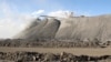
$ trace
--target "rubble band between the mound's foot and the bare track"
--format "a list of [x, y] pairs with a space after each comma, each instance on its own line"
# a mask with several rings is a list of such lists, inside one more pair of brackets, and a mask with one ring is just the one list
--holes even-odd
[[81, 40], [22, 40], [22, 39], [6, 39], [0, 40], [0, 46], [13, 48], [107, 48], [111, 46], [111, 41], [101, 43], [99, 40], [81, 41]]

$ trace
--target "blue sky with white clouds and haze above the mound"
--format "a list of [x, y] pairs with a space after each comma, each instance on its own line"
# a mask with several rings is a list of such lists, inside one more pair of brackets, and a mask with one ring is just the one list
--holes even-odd
[[12, 38], [41, 14], [64, 17], [111, 13], [111, 0], [0, 0], [0, 38]]

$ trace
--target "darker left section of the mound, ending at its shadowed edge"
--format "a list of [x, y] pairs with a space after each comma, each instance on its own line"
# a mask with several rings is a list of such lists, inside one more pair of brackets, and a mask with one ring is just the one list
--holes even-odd
[[[36, 20], [37, 21], [37, 20]], [[54, 38], [60, 21], [56, 19], [50, 20], [42, 20], [40, 22], [32, 22], [32, 25], [30, 24], [28, 29], [22, 31], [20, 34], [16, 35], [16, 39], [51, 39]]]

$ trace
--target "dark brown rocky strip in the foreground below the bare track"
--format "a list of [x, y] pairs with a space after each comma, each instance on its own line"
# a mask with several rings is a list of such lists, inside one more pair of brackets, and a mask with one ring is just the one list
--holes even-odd
[[89, 56], [61, 52], [0, 52], [0, 62], [111, 62], [111, 55]]

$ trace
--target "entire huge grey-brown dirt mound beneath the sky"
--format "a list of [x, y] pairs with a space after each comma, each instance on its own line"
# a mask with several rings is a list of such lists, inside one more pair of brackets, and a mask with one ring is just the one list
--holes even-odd
[[[33, 23], [32, 23], [33, 24]], [[80, 39], [111, 41], [111, 16], [44, 19], [16, 39]]]

